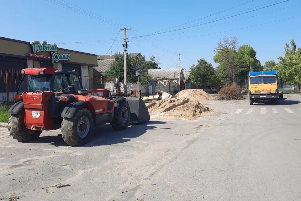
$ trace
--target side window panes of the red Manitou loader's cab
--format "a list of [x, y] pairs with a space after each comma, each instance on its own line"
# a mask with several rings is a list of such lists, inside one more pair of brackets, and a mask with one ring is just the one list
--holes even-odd
[[[75, 90], [82, 90], [81, 81], [78, 76], [70, 74], [69, 76], [71, 84], [74, 84]], [[68, 90], [68, 81], [65, 73], [55, 75], [53, 82], [53, 90], [55, 92], [69, 92]]]

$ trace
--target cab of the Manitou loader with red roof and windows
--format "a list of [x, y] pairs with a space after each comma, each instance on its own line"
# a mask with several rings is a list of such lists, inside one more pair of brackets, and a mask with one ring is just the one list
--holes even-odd
[[81, 80], [76, 72], [47, 71], [46, 69], [49, 68], [22, 70], [24, 76], [19, 84], [17, 95], [22, 95], [24, 91], [53, 91], [76, 94], [77, 91], [83, 90]]

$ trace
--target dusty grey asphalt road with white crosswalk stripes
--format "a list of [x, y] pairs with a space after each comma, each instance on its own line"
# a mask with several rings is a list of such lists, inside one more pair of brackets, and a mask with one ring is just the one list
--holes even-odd
[[198, 121], [104, 125], [82, 147], [59, 130], [18, 143], [2, 128], [0, 200], [301, 200], [301, 96], [202, 104], [214, 112]]

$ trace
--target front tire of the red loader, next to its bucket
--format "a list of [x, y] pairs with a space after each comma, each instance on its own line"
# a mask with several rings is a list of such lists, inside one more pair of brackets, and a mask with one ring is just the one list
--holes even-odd
[[126, 100], [121, 100], [118, 104], [119, 106], [114, 108], [114, 118], [111, 125], [114, 130], [123, 130], [129, 126], [131, 110]]

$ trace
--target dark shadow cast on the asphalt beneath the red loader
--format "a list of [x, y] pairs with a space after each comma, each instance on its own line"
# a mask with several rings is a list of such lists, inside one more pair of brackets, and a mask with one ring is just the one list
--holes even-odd
[[[94, 128], [91, 141], [79, 147], [95, 147], [128, 142], [133, 138], [143, 135], [147, 130], [157, 129], [154, 125], [158, 124], [166, 124], [166, 122], [149, 121], [142, 124], [130, 125], [128, 128], [121, 131], [115, 131], [110, 124], [105, 124]], [[39, 139], [27, 143], [50, 143], [57, 147], [68, 146], [63, 141], [61, 135], [41, 136]]]

